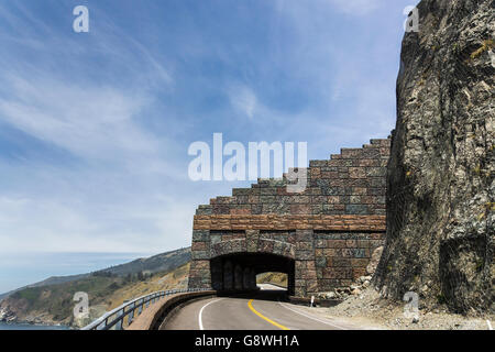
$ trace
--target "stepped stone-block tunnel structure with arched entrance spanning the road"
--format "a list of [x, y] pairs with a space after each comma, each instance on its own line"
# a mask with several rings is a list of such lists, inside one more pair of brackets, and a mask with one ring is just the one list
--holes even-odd
[[189, 288], [254, 289], [264, 272], [286, 273], [297, 297], [349, 287], [384, 244], [389, 145], [372, 140], [311, 161], [299, 194], [284, 175], [199, 206]]

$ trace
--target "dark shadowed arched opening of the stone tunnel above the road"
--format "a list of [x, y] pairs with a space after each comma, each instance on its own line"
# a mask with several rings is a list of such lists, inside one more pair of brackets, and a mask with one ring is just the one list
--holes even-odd
[[287, 275], [287, 294], [294, 295], [294, 258], [271, 253], [233, 253], [210, 260], [211, 286], [221, 293], [258, 289], [256, 275], [283, 273]]

